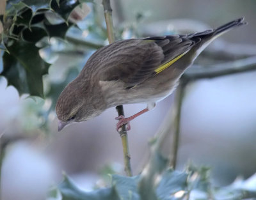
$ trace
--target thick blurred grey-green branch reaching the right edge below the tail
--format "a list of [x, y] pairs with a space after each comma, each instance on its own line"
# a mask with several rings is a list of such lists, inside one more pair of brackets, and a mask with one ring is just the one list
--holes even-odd
[[256, 56], [212, 65], [209, 67], [193, 66], [184, 73], [182, 79], [186, 79], [187, 81], [207, 78], [211, 79], [223, 75], [248, 72], [252, 70], [256, 70]]

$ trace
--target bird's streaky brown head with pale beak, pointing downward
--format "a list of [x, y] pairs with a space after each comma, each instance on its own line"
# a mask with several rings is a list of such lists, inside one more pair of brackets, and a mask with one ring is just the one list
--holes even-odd
[[92, 91], [79, 86], [76, 81], [70, 82], [63, 89], [56, 104], [58, 131], [70, 123], [86, 121], [102, 113], [104, 108], [99, 102], [100, 98], [95, 97]]

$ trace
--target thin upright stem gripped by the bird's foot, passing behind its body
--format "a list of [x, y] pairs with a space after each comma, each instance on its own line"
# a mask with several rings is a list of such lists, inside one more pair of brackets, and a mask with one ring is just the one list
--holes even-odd
[[[104, 16], [106, 20], [106, 26], [108, 31], [108, 41], [109, 43], [115, 42], [115, 36], [113, 31], [113, 19], [112, 19], [112, 9], [110, 5], [110, 0], [103, 0], [102, 5], [104, 8]], [[124, 107], [123, 105], [116, 106], [116, 111], [118, 112], [118, 116], [124, 116]], [[119, 131], [120, 137], [122, 139], [122, 146], [123, 146], [123, 153], [124, 153], [124, 171], [127, 176], [132, 176], [131, 170], [131, 157], [129, 155], [129, 145], [128, 145], [128, 135], [125, 129], [125, 125], [122, 126], [121, 130]]]

